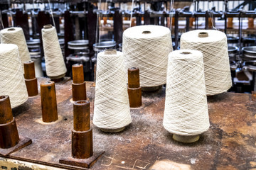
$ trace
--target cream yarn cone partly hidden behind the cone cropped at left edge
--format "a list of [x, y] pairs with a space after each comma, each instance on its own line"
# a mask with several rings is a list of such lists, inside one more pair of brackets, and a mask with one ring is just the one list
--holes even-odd
[[1, 30], [1, 43], [15, 44], [18, 46], [19, 57], [21, 57], [21, 67], [23, 70], [23, 62], [31, 60], [28, 46], [26, 44], [25, 35], [22, 28], [12, 27]]

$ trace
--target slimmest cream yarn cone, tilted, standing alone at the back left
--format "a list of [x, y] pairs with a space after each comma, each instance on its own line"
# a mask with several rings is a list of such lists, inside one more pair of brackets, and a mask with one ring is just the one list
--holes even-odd
[[46, 25], [42, 29], [43, 50], [46, 59], [46, 74], [50, 79], [60, 79], [67, 69], [61, 52], [55, 27]]

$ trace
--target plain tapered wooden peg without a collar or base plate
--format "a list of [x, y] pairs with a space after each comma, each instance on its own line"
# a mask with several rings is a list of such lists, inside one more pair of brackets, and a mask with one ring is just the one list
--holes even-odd
[[58, 120], [55, 83], [53, 81], [46, 81], [40, 86], [43, 122], [54, 122]]

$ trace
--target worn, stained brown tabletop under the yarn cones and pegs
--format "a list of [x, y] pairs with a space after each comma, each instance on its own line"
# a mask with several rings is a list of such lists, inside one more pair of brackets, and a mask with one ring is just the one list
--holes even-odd
[[[42, 79], [40, 79], [41, 81]], [[11, 157], [65, 169], [59, 164], [71, 154], [73, 103], [71, 81], [56, 84], [56, 123], [42, 123], [40, 95], [14, 108], [18, 132], [33, 144]], [[105, 151], [92, 169], [253, 169], [256, 168], [256, 102], [250, 94], [224, 93], [208, 97], [210, 129], [198, 142], [181, 144], [163, 125], [164, 92], [142, 94], [142, 107], [131, 109], [132, 124], [123, 132], [106, 133], [92, 124], [95, 152]], [[95, 88], [87, 82], [91, 101]], [[0, 167], [1, 168], [1, 167]]]

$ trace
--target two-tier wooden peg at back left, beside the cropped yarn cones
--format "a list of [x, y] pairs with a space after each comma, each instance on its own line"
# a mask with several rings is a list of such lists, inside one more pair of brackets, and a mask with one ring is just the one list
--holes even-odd
[[38, 82], [35, 73], [35, 64], [33, 61], [24, 62], [24, 78], [28, 96], [38, 95]]

